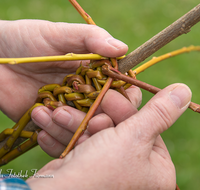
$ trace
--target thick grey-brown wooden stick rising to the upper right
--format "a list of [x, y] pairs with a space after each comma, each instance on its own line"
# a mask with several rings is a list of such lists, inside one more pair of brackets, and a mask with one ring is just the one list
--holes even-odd
[[188, 33], [199, 21], [200, 4], [120, 60], [119, 71], [121, 73], [129, 71], [178, 36]]

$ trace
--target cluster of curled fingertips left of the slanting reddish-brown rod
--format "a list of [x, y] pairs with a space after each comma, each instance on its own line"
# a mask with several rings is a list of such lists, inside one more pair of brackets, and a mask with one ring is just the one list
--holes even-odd
[[[38, 134], [38, 144], [50, 156], [59, 157], [84, 117], [85, 113], [69, 106], [54, 112], [44, 106], [35, 108], [32, 120], [45, 130]], [[63, 123], [60, 124], [60, 121]]]

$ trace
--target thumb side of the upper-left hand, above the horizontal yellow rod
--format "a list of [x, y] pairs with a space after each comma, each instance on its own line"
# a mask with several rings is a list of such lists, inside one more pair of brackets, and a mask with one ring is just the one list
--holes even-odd
[[[7, 30], [3, 31], [4, 28]], [[23, 57], [30, 56], [31, 53], [45, 56], [66, 52], [92, 52], [108, 57], [118, 57], [126, 54], [128, 50], [126, 44], [94, 25], [17, 20], [4, 21], [4, 28], [1, 30], [4, 43], [0, 53], [6, 57], [10, 57], [11, 54], [13, 57]], [[17, 32], [13, 33], [14, 30]], [[20, 39], [21, 36], [23, 40]], [[7, 38], [12, 42], [6, 41]], [[13, 47], [8, 49], [6, 47], [10, 46], [9, 43], [12, 43]], [[16, 48], [17, 45], [21, 48]]]

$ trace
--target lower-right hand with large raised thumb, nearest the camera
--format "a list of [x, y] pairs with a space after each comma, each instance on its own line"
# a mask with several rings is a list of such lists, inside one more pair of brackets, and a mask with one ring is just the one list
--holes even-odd
[[[47, 164], [38, 173], [54, 178], [45, 182], [28, 179], [32, 189], [175, 189], [175, 168], [159, 134], [187, 109], [191, 100], [189, 88], [170, 85], [138, 112], [130, 103], [123, 102], [120, 108], [129, 109], [131, 116], [116, 110], [115, 98], [122, 99], [120, 94], [110, 99], [111, 95], [113, 91], [109, 90], [101, 107], [116, 127], [107, 126], [83, 139], [64, 159]], [[114, 107], [106, 108], [107, 103]]]

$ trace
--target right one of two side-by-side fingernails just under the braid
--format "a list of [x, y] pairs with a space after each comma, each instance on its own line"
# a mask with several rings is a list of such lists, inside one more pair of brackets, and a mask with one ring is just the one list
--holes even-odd
[[65, 109], [60, 109], [53, 117], [53, 120], [55, 123], [57, 123], [60, 126], [66, 127], [66, 126], [71, 126], [72, 123], [72, 116], [71, 114], [65, 110]]

